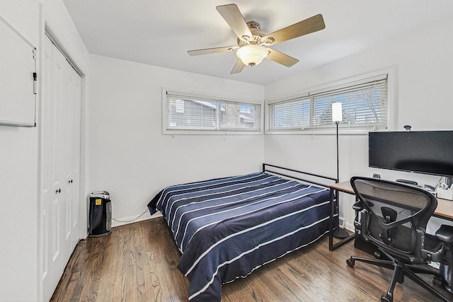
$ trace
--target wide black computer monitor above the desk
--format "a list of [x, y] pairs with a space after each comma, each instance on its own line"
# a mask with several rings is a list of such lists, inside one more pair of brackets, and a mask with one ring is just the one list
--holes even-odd
[[453, 131], [369, 132], [368, 164], [453, 179]]

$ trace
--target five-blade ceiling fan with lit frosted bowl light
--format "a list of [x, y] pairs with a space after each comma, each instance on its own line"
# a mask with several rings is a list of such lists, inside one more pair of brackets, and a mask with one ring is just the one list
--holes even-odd
[[284, 66], [291, 67], [299, 60], [282, 52], [277, 52], [277, 50], [273, 50], [269, 46], [326, 28], [323, 16], [319, 14], [266, 35], [260, 29], [259, 23], [255, 21], [246, 22], [244, 20], [236, 4], [217, 6], [216, 9], [238, 36], [237, 45], [189, 50], [188, 54], [197, 56], [200, 54], [236, 51], [238, 61], [231, 70], [231, 74], [238, 74], [246, 65], [258, 65], [263, 59], [270, 59]]

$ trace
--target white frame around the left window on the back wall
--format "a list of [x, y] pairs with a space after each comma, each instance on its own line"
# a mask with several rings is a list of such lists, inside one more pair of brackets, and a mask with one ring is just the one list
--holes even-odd
[[[219, 103], [230, 102], [239, 103], [244, 105], [258, 105], [258, 127], [259, 130], [248, 131], [248, 130], [236, 130], [236, 129], [167, 129], [167, 93], [176, 95], [186, 95], [190, 98], [202, 98], [215, 100]], [[181, 91], [179, 89], [171, 89], [162, 87], [161, 95], [161, 117], [162, 117], [162, 134], [164, 135], [258, 135], [264, 133], [264, 109], [265, 105], [263, 100], [250, 99], [250, 98], [237, 98], [234, 96], [225, 95], [212, 95], [208, 93], [198, 93], [193, 91]]]

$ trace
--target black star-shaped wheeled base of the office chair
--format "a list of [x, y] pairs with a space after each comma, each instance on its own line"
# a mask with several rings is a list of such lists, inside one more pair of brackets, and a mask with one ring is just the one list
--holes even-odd
[[[396, 283], [403, 284], [405, 277], [408, 277], [409, 279], [414, 281], [416, 284], [422, 286], [424, 289], [429, 291], [431, 294], [435, 295], [437, 298], [440, 298], [440, 300], [445, 301], [445, 302], [451, 301], [449, 298], [442, 295], [439, 291], [437, 291], [435, 288], [433, 288], [430, 284], [423, 281], [423, 279], [421, 279], [420, 277], [418, 277], [416, 275], [416, 274], [430, 274], [433, 276], [434, 284], [443, 285], [444, 282], [442, 281], [443, 280], [442, 274], [440, 274], [439, 272], [437, 272], [433, 269], [428, 269], [428, 268], [420, 267], [417, 265], [408, 265], [401, 260], [391, 257], [390, 255], [387, 255], [387, 256], [392, 260], [379, 260], [379, 259], [369, 259], [369, 258], [352, 256], [348, 260], [346, 260], [346, 263], [348, 264], [348, 267], [354, 267], [355, 262], [359, 261], [359, 262], [368, 263], [369, 265], [376, 265], [378, 267], [384, 267], [386, 269], [394, 270], [394, 274], [391, 277], [389, 289], [387, 290], [386, 294], [383, 294], [381, 296], [381, 301], [383, 301], [383, 302], [391, 302], [394, 300], [394, 289], [395, 289]], [[435, 281], [435, 280], [437, 280], [437, 281]], [[439, 280], [440, 280], [440, 284], [439, 284]], [[445, 286], [445, 287], [447, 288], [449, 286]], [[449, 290], [447, 289], [447, 291], [449, 291]], [[449, 291], [449, 292], [451, 293], [452, 291]]]

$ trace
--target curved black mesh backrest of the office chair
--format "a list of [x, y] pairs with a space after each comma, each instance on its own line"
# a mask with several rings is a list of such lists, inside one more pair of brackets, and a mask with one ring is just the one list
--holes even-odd
[[351, 183], [369, 212], [367, 235], [380, 246], [413, 252], [415, 229], [425, 230], [437, 199], [421, 189], [385, 180], [353, 178]]

